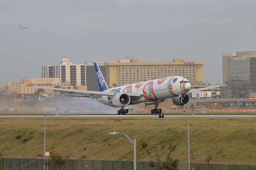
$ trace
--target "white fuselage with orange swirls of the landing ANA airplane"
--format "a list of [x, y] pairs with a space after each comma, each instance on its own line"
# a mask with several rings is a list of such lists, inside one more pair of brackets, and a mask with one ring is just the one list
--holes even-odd
[[[138, 104], [142, 102], [156, 102], [158, 100], [166, 98], [178, 97], [181, 94], [186, 94], [191, 88], [190, 82], [181, 76], [172, 76], [166, 78], [160, 78], [155, 80], [148, 80], [145, 82], [139, 82], [134, 84], [128, 84], [124, 86], [110, 88], [104, 92], [118, 93], [134, 93], [142, 94], [141, 97], [133, 100], [131, 98], [130, 104]], [[108, 106], [114, 106], [112, 100], [108, 96], [102, 96], [98, 99], [99, 102]]]

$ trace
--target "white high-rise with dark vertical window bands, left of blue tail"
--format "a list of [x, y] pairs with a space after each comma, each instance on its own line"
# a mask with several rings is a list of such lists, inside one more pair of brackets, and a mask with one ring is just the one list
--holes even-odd
[[60, 78], [60, 83], [71, 86], [86, 86], [86, 64], [74, 64], [69, 58], [62, 58], [57, 65], [42, 66], [42, 78]]

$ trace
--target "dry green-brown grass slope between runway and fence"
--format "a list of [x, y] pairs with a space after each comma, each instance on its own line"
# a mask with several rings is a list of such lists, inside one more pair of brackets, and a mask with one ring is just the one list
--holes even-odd
[[[186, 118], [48, 118], [46, 150], [86, 156], [93, 160], [130, 160], [132, 144], [124, 132], [137, 138], [137, 159], [153, 160], [156, 148], [178, 143], [173, 154], [181, 162], [187, 159]], [[0, 118], [0, 153], [4, 157], [35, 158], [43, 154], [43, 118]], [[142, 148], [142, 143], [148, 144]], [[197, 150], [197, 159], [223, 149], [226, 164], [255, 164], [256, 119], [254, 118], [191, 118], [190, 149]], [[164, 156], [163, 156], [164, 157]], [[222, 156], [212, 160], [221, 163]], [[214, 162], [215, 161], [215, 162]], [[193, 162], [193, 161], [192, 161]]]

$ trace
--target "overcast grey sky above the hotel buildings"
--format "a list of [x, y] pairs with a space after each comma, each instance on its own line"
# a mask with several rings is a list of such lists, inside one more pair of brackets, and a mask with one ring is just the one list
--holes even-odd
[[[222, 53], [256, 50], [255, 0], [0, 0], [0, 86], [41, 66], [119, 60], [205, 61], [222, 83]], [[17, 27], [28, 26], [28, 30]], [[62, 54], [63, 53], [63, 54]]]

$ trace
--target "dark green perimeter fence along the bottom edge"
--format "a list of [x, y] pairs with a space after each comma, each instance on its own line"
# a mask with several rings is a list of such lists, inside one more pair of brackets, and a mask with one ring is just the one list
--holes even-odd
[[[2, 170], [43, 170], [42, 159], [2, 158]], [[188, 170], [187, 163], [180, 163], [180, 170]], [[190, 164], [191, 170], [256, 170], [250, 165]], [[58, 170], [48, 166], [48, 170]], [[62, 170], [133, 170], [132, 161], [69, 160]], [[157, 170], [149, 162], [137, 162], [137, 170]]]

